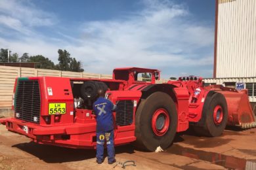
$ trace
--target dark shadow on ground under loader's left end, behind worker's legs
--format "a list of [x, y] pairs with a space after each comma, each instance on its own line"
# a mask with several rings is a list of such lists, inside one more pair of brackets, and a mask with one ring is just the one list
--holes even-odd
[[[64, 148], [60, 146], [43, 145], [33, 142], [15, 144], [12, 147], [23, 150], [24, 152], [28, 152], [29, 154], [32, 154], [33, 156], [47, 163], [81, 161], [95, 158], [96, 156], [96, 150]], [[131, 144], [116, 147], [116, 154], [123, 152], [132, 154], [134, 152], [134, 147]], [[106, 150], [104, 153], [106, 153]]]

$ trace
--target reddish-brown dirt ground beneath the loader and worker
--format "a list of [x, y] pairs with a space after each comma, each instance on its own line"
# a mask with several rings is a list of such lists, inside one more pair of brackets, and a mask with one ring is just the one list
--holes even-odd
[[117, 162], [98, 165], [95, 150], [35, 144], [0, 125], [0, 169], [246, 169], [256, 168], [256, 128], [226, 129], [221, 137], [200, 137], [186, 131], [160, 153], [132, 144], [116, 147]]

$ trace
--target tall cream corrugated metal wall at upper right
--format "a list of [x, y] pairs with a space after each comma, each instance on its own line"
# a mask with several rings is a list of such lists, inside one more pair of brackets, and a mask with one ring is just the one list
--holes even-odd
[[256, 76], [256, 1], [219, 0], [216, 77]]

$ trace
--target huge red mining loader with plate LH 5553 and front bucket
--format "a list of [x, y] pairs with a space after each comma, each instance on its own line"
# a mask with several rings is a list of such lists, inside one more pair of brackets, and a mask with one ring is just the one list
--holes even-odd
[[[150, 75], [150, 82], [139, 77]], [[189, 126], [216, 137], [226, 125], [254, 127], [246, 90], [203, 86], [201, 77], [181, 77], [156, 84], [157, 69], [114, 69], [113, 79], [29, 77], [14, 86], [14, 118], [2, 118], [9, 131], [33, 142], [69, 148], [95, 148], [96, 121], [92, 105], [98, 88], [117, 105], [116, 145], [134, 142], [140, 148], [167, 148], [175, 134]]]

